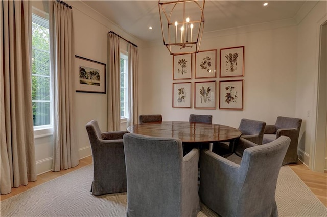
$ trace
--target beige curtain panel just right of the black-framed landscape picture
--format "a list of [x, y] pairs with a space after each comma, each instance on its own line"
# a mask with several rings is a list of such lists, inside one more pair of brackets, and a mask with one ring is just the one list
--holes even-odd
[[108, 131], [118, 131], [121, 127], [119, 41], [119, 36], [108, 33]]

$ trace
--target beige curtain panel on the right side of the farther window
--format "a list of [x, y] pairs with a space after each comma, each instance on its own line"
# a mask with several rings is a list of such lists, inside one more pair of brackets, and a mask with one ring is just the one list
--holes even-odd
[[138, 48], [132, 44], [129, 44], [129, 48], [128, 48], [129, 120], [127, 126], [138, 123], [137, 74], [138, 74]]

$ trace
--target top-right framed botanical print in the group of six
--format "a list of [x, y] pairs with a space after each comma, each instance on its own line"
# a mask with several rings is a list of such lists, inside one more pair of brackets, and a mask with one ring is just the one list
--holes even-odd
[[220, 49], [220, 77], [244, 76], [244, 46]]

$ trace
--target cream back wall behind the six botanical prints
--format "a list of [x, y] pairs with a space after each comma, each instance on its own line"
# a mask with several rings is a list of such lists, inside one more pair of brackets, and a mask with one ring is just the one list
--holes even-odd
[[[239, 34], [220, 34], [204, 38], [201, 50], [217, 49], [217, 78], [173, 81], [173, 56], [165, 46], [152, 44], [145, 49], [146, 70], [139, 79], [141, 92], [141, 113], [162, 114], [164, 120], [188, 121], [191, 113], [212, 114], [213, 122], [238, 127], [242, 118], [262, 120], [274, 124], [277, 116], [295, 117], [296, 105], [296, 55], [297, 27], [285, 27]], [[219, 60], [220, 49], [245, 46], [244, 105], [243, 111], [218, 109], [219, 100]], [[194, 58], [193, 58], [194, 64]], [[193, 65], [194, 66], [194, 65]], [[216, 80], [216, 109], [203, 110], [192, 108], [172, 108], [172, 83]], [[140, 113], [140, 114], [141, 114]]]

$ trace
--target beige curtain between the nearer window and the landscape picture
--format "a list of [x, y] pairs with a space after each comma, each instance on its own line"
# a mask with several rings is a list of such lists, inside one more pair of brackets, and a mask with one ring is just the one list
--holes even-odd
[[57, 1], [49, 4], [50, 49], [54, 95], [53, 171], [79, 164], [74, 133], [73, 11]]

